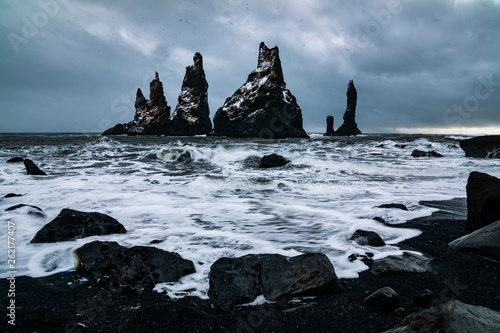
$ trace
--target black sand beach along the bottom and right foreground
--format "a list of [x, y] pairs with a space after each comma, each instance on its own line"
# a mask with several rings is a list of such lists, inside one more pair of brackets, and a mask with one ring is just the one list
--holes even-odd
[[[500, 263], [447, 245], [467, 234], [466, 199], [421, 204], [439, 211], [391, 226], [422, 231], [398, 247], [430, 256], [428, 272], [374, 275], [366, 270], [356, 279], [340, 279], [344, 292], [338, 295], [243, 306], [231, 312], [216, 311], [208, 300], [196, 297], [169, 299], [152, 290], [89, 287], [74, 272], [21, 276], [16, 278], [16, 325], [7, 324], [3, 316], [0, 327], [11, 332], [382, 332], [420, 311], [414, 297], [424, 290], [435, 295], [432, 304], [457, 299], [500, 311]], [[0, 285], [8, 291], [6, 279]], [[398, 293], [398, 310], [380, 313], [363, 304], [382, 287]], [[2, 299], [7, 304], [7, 292]]]

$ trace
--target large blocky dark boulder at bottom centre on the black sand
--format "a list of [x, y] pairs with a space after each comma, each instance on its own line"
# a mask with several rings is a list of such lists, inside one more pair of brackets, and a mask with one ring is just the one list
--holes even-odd
[[332, 263], [321, 253], [221, 258], [210, 268], [209, 280], [210, 302], [226, 310], [252, 302], [259, 295], [278, 301], [342, 291]]

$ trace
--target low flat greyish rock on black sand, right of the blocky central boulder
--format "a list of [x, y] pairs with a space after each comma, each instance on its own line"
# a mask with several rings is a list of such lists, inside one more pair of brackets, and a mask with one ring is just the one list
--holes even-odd
[[371, 272], [375, 275], [415, 272], [423, 273], [429, 270], [430, 259], [411, 252], [404, 252], [402, 256], [387, 256], [373, 261]]

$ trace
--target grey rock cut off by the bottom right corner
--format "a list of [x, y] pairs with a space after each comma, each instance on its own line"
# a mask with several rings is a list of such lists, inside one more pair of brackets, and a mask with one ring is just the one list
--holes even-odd
[[500, 313], [453, 300], [412, 314], [385, 333], [406, 332], [500, 332]]

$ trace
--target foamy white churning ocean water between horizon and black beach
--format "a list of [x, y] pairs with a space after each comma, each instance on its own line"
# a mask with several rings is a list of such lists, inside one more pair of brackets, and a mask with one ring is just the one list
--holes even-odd
[[[220, 257], [250, 253], [295, 256], [322, 252], [339, 277], [367, 267], [350, 254], [375, 258], [401, 253], [398, 242], [420, 234], [388, 224], [430, 215], [421, 200], [465, 197], [471, 171], [500, 176], [500, 160], [466, 158], [466, 136], [361, 135], [347, 138], [228, 139], [215, 137], [102, 137], [96, 134], [0, 135], [0, 277], [7, 276], [7, 221], [16, 224], [18, 275], [45, 276], [73, 268], [72, 251], [94, 240], [155, 246], [178, 252], [197, 272], [156, 289], [172, 297], [206, 298], [208, 272]], [[413, 158], [413, 149], [443, 158]], [[291, 163], [259, 169], [277, 153]], [[15, 156], [32, 159], [48, 176], [29, 176]], [[6, 212], [16, 204], [29, 208]], [[402, 203], [409, 211], [381, 209]], [[126, 234], [53, 244], [30, 244], [63, 208], [116, 218]], [[349, 240], [356, 229], [379, 233], [388, 245]], [[160, 241], [150, 244], [151, 241]]]

